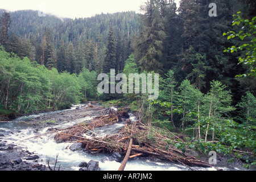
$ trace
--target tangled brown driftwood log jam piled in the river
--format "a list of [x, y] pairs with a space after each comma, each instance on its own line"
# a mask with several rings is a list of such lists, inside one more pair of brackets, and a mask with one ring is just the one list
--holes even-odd
[[[153, 156], [154, 158], [167, 159], [174, 163], [183, 164], [190, 169], [192, 169], [191, 166], [214, 167], [209, 163], [196, 159], [195, 156], [184, 154], [183, 151], [178, 150], [174, 146], [166, 148], [166, 140], [171, 139], [170, 136], [167, 137], [167, 135], [156, 130], [150, 130], [141, 121], [131, 123], [129, 122], [130, 119], [127, 119], [128, 122], [117, 134], [105, 137], [100, 137], [94, 132], [96, 127], [113, 125], [120, 121], [123, 115], [127, 115], [125, 110], [121, 112], [110, 111], [108, 115], [96, 117], [90, 123], [82, 123], [81, 125], [58, 131], [55, 140], [57, 142], [70, 140], [81, 142], [82, 147], [92, 153], [113, 153], [117, 151], [125, 155], [119, 170], [123, 170], [127, 160], [135, 156]], [[166, 132], [171, 133], [168, 130]], [[174, 135], [174, 137], [176, 136]]]

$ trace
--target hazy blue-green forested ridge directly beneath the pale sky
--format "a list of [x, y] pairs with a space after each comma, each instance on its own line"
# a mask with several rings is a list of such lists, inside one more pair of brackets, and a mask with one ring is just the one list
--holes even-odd
[[[0, 9], [0, 14], [3, 13], [3, 9]], [[97, 39], [96, 34], [103, 34], [104, 42], [108, 34], [109, 26], [112, 25], [115, 34], [127, 34], [132, 35], [138, 30], [139, 27], [139, 14], [135, 11], [128, 11], [124, 13], [114, 14], [96, 14], [90, 18], [59, 18], [55, 15], [46, 14], [46, 16], [39, 16], [38, 11], [35, 10], [19, 10], [10, 12], [11, 26], [9, 34], [15, 34], [16, 36], [24, 36], [35, 39], [41, 39], [47, 28], [53, 33], [53, 36], [59, 36], [60, 34], [69, 34], [73, 36], [81, 36], [82, 32], [86, 29], [87, 37], [93, 37]], [[93, 32], [90, 32], [93, 31]], [[79, 35], [78, 35], [79, 34]], [[58, 39], [59, 39], [58, 38]]]

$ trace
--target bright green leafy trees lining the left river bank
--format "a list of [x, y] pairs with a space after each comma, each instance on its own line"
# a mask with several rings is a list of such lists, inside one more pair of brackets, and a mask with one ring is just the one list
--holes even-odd
[[0, 50], [0, 98], [6, 110], [31, 113], [80, 102], [79, 78]]

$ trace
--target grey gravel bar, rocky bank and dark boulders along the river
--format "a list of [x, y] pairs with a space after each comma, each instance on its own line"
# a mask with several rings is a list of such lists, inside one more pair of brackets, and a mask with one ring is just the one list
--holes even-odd
[[[106, 115], [109, 113], [109, 108], [102, 107], [97, 103], [92, 105], [78, 105], [73, 107], [73, 109], [52, 112], [49, 114], [36, 115], [36, 117], [24, 117], [19, 120], [25, 121], [26, 125], [32, 128], [32, 133], [36, 135], [42, 134], [42, 130], [46, 133], [51, 133], [51, 131], [56, 131], [58, 127], [63, 126], [63, 123], [67, 123], [69, 126], [73, 126], [73, 121], [77, 122], [90, 122], [93, 117]], [[35, 116], [35, 115], [34, 115]], [[64, 125], [65, 126], [65, 125]], [[19, 136], [19, 130], [11, 130], [10, 134]], [[24, 136], [20, 136], [21, 138]], [[26, 140], [26, 138], [24, 138]], [[81, 150], [81, 146], [77, 143], [71, 144], [69, 150], [77, 151]], [[195, 154], [199, 155], [199, 154]], [[201, 156], [201, 160], [208, 162], [209, 156]], [[218, 166], [225, 167], [229, 170], [244, 170], [242, 168], [243, 163], [240, 160], [236, 160], [234, 163], [228, 163], [226, 156], [218, 155], [217, 164]], [[54, 160], [54, 159], [51, 159]], [[109, 157], [102, 157], [100, 160], [102, 163], [105, 161], [116, 161], [121, 162], [122, 156], [113, 153]], [[43, 159], [40, 158], [35, 151], [28, 151], [27, 148], [18, 146], [13, 142], [6, 140], [5, 134], [1, 132], [0, 127], [0, 171], [46, 171], [53, 169], [53, 164], [47, 164], [46, 161], [42, 163]], [[56, 166], [56, 170], [58, 166]], [[89, 162], [80, 161], [77, 164], [77, 169], [80, 171], [87, 170], [100, 170], [100, 166], [97, 161], [90, 160]]]

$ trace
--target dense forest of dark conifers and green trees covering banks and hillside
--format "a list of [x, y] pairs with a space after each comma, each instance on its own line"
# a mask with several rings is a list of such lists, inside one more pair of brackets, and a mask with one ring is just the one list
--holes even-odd
[[[209, 16], [209, 3], [217, 16]], [[177, 148], [234, 154], [255, 165], [255, 1], [148, 0], [133, 11], [60, 19], [37, 11], [0, 20], [0, 114], [97, 100], [130, 106]], [[159, 73], [159, 98], [97, 93], [100, 73]], [[168, 146], [167, 146], [168, 147]]]

